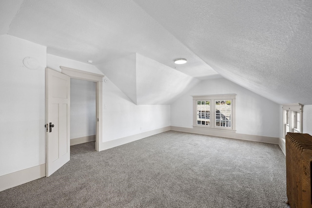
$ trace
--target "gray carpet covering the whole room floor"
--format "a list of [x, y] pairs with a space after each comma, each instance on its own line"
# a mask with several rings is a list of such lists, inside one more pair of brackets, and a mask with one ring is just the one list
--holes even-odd
[[97, 152], [71, 147], [46, 178], [0, 192], [0, 207], [289, 208], [278, 145], [163, 132]]

